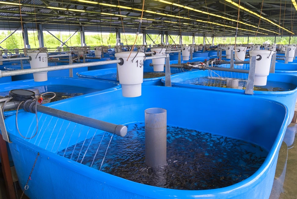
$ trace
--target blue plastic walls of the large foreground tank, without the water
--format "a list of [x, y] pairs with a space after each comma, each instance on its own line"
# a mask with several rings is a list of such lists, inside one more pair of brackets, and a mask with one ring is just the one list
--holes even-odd
[[[199, 102], [201, 106], [197, 104]], [[185, 103], [191, 106], [185, 108]], [[71, 133], [64, 136], [60, 133], [57, 136], [58, 130], [54, 131], [50, 142], [50, 135], [45, 135], [43, 139], [39, 135], [32, 140], [24, 140], [16, 131], [15, 116], [11, 116], [5, 123], [13, 142], [9, 147], [21, 187], [27, 182], [37, 153], [40, 154], [31, 175], [32, 180], [29, 181], [29, 189], [25, 190], [25, 194], [31, 199], [268, 199], [278, 152], [289, 122], [287, 107], [273, 100], [226, 92], [160, 86], [143, 86], [142, 95], [136, 98], [125, 98], [121, 89], [117, 89], [79, 96], [48, 106], [116, 124], [144, 121], [145, 109], [162, 107], [167, 110], [167, 125], [243, 139], [264, 147], [269, 154], [258, 171], [232, 186], [194, 191], [158, 188], [119, 178], [57, 155], [57, 148], [62, 149], [69, 144]], [[214, 123], [213, 118], [216, 115], [219, 119]], [[234, 118], [236, 116], [240, 116], [240, 119]], [[39, 114], [39, 117], [44, 120], [46, 115]], [[34, 114], [22, 112], [18, 120], [21, 132], [35, 132]], [[82, 139], [85, 138], [86, 132], [83, 135]], [[69, 145], [74, 143], [71, 139]]]

